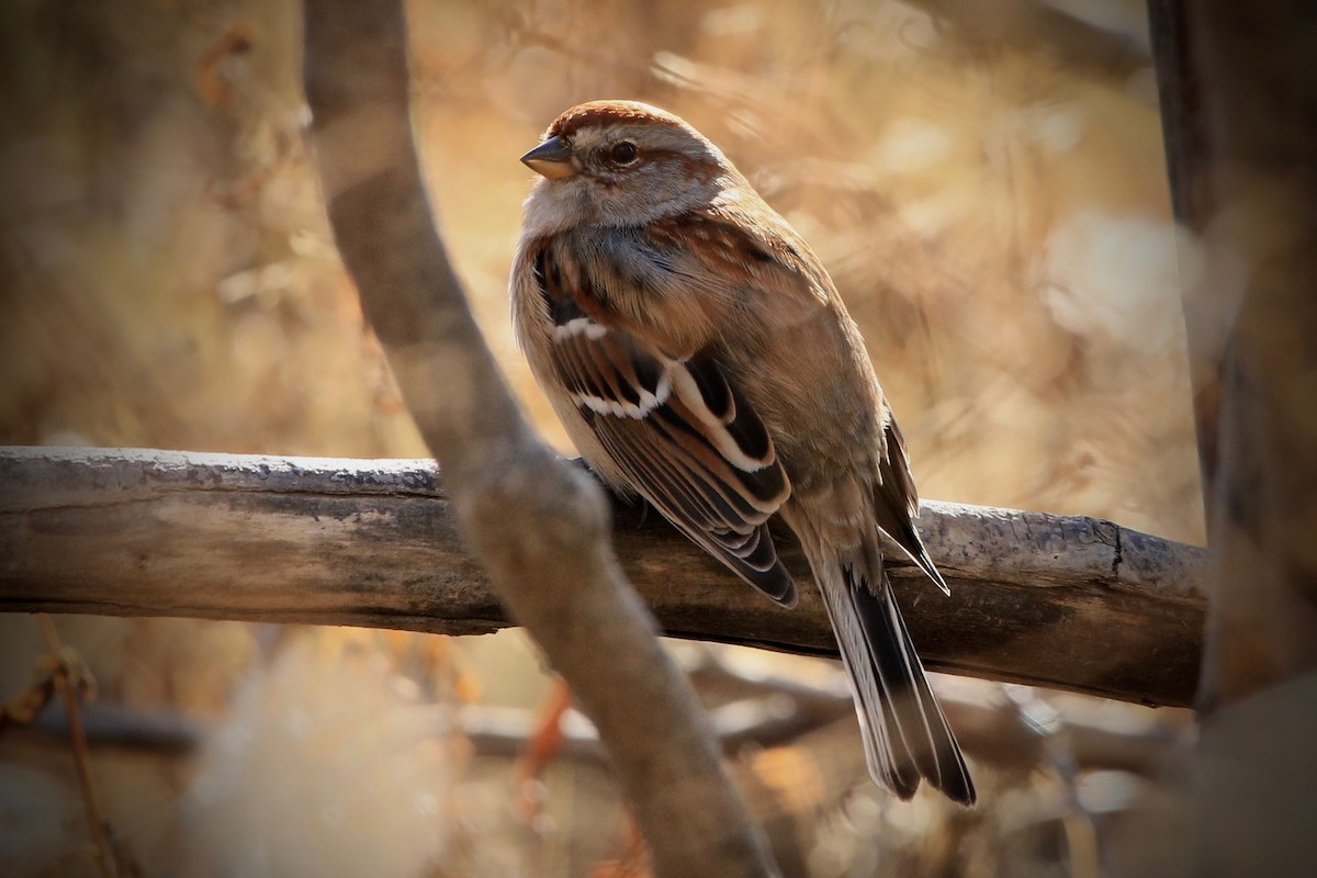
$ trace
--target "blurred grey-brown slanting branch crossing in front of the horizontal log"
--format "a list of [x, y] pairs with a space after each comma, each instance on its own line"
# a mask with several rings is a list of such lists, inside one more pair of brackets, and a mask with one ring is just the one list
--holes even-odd
[[[655, 871], [774, 874], [690, 684], [618, 566], [602, 492], [535, 436], [466, 307], [412, 142], [402, 0], [306, 0], [303, 24], [311, 140], [335, 240], [444, 463], [453, 520], [598, 727]], [[436, 534], [416, 537], [424, 545]]]

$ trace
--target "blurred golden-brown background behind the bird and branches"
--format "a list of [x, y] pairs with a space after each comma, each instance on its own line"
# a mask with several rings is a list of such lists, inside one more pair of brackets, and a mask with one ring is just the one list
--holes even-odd
[[[562, 109], [633, 97], [718, 142], [823, 258], [923, 496], [1202, 541], [1139, 0], [408, 13], [444, 237], [564, 453], [510, 330], [532, 184], [516, 159]], [[425, 454], [328, 233], [300, 134], [299, 14], [5, 4], [0, 442]], [[54, 625], [72, 650], [59, 667], [95, 681], [83, 719], [121, 874], [645, 874], [573, 715], [525, 781], [518, 754], [553, 683], [519, 632]], [[66, 717], [20, 710], [58, 670], [49, 633], [0, 616], [0, 873], [100, 874]], [[1122, 821], [1189, 728], [1183, 711], [939, 678], [980, 806], [901, 804], [865, 778], [834, 663], [673, 646], [788, 874], [1113, 874]]]

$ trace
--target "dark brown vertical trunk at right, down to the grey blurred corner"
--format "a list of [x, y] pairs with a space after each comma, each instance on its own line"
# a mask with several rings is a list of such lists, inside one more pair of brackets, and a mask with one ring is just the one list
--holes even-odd
[[[1317, 669], [1317, 20], [1152, 7], [1220, 587], [1205, 703]], [[1220, 403], [1216, 401], [1220, 399]]]

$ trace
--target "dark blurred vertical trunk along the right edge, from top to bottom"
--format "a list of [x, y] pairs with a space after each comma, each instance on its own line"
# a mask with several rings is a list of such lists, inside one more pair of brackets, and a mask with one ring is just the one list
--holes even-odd
[[1317, 873], [1317, 9], [1152, 7], [1209, 538], [1195, 874]]

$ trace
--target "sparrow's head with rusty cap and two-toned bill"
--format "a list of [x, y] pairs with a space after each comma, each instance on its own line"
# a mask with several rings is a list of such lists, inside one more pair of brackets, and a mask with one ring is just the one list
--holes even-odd
[[744, 184], [681, 118], [648, 104], [599, 100], [558, 116], [522, 157], [544, 179], [528, 208], [547, 225], [639, 225], [707, 207]]

